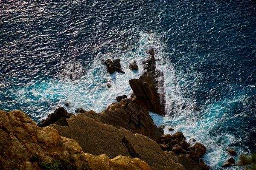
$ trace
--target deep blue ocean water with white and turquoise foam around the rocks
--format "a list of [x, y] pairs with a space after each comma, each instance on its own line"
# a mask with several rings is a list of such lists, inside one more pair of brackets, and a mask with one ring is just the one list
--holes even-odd
[[[228, 147], [256, 152], [254, 0], [2, 0], [0, 109], [36, 122], [66, 102], [70, 113], [100, 112], [131, 95], [128, 80], [143, 74], [148, 48], [164, 72], [168, 115], [150, 114], [165, 133], [205, 144], [211, 169], [221, 169]], [[125, 74], [108, 74], [108, 58], [121, 59]], [[139, 71], [128, 68], [134, 60]], [[81, 79], [59, 78], [70, 62], [83, 66]]]

